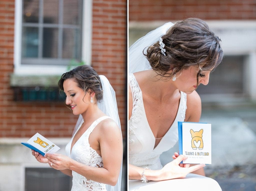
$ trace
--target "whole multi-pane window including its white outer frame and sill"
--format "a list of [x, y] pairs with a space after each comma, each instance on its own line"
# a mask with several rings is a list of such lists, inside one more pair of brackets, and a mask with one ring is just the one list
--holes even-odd
[[91, 64], [92, 0], [15, 0], [15, 76], [61, 75]]

